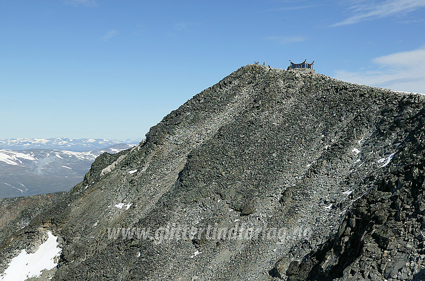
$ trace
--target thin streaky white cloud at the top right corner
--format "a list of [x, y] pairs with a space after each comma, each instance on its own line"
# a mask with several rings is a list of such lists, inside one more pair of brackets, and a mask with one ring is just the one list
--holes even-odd
[[364, 20], [400, 15], [423, 7], [425, 7], [424, 0], [385, 0], [368, 1], [367, 3], [362, 1], [360, 4], [357, 1], [349, 8], [353, 11], [353, 15], [331, 26], [353, 24]]

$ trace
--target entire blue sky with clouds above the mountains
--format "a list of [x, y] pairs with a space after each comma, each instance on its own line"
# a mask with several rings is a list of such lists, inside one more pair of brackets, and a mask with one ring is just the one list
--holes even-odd
[[144, 137], [254, 61], [425, 93], [424, 0], [2, 0], [0, 36], [0, 138]]

